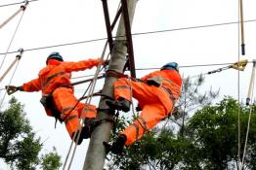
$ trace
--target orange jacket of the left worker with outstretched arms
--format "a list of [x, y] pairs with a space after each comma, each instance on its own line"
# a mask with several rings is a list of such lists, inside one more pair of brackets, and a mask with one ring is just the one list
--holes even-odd
[[48, 65], [40, 70], [38, 78], [22, 85], [23, 91], [39, 91], [43, 94], [52, 93], [59, 86], [71, 86], [70, 77], [72, 71], [91, 69], [97, 66], [101, 59], [88, 59], [78, 62], [62, 62], [54, 59], [54, 64]]

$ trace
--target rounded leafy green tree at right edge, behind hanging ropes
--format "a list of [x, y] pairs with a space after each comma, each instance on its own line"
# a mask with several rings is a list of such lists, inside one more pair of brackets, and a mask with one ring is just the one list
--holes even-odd
[[[187, 126], [187, 135], [198, 150], [205, 169], [234, 169], [237, 164], [237, 115], [240, 110], [241, 149], [244, 147], [249, 108], [226, 97], [216, 106], [195, 113]], [[255, 113], [255, 107], [253, 108]], [[245, 167], [255, 169], [256, 117], [252, 115], [245, 156]], [[242, 150], [241, 150], [242, 151]], [[240, 157], [242, 157], [242, 152]]]

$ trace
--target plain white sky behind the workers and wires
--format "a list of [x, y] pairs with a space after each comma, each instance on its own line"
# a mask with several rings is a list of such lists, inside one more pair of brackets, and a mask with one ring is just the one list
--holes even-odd
[[[0, 0], [0, 5], [21, 1]], [[110, 19], [113, 19], [119, 1], [108, 0]], [[246, 0], [244, 20], [256, 19], [256, 1]], [[0, 24], [13, 15], [20, 5], [0, 8]], [[13, 33], [21, 17], [14, 18], [0, 29], [0, 52], [7, 51]], [[233, 22], [238, 19], [238, 0], [140, 0], [136, 7], [132, 32], [148, 32], [165, 29], [176, 29], [199, 25]], [[256, 22], [244, 23], [246, 55], [240, 58], [252, 60], [256, 54]], [[115, 32], [113, 33], [115, 35]], [[18, 51], [106, 38], [106, 26], [102, 1], [91, 0], [39, 0], [31, 2], [21, 20], [21, 26], [11, 46], [10, 51]], [[238, 58], [238, 25], [230, 24], [216, 27], [188, 29], [158, 34], [134, 36], [134, 51], [136, 68], [161, 67], [166, 62], [176, 61], [180, 65], [230, 63]], [[105, 41], [86, 43], [39, 51], [25, 51], [14, 77], [12, 85], [21, 85], [37, 77], [38, 71], [45, 66], [45, 59], [52, 51], [60, 51], [64, 60], [78, 61], [89, 57], [100, 57]], [[8, 54], [0, 75], [15, 59], [16, 53]], [[4, 55], [0, 55], [2, 58]], [[205, 73], [220, 66], [182, 68], [185, 77]], [[240, 99], [244, 102], [248, 90], [252, 64], [240, 73]], [[95, 71], [95, 70], [93, 70]], [[93, 71], [75, 73], [73, 76], [90, 75]], [[138, 71], [138, 77], [149, 71]], [[8, 85], [12, 72], [1, 83], [0, 87]], [[102, 84], [97, 86], [100, 89]], [[205, 89], [218, 89], [222, 95], [232, 95], [237, 98], [237, 71], [228, 70], [222, 73], [206, 76]], [[76, 86], [84, 89], [85, 85]], [[3, 97], [1, 91], [1, 97]], [[76, 96], [82, 95], [76, 90]], [[55, 119], [44, 113], [39, 103], [40, 92], [14, 94], [25, 105], [27, 118], [38, 136], [44, 143], [44, 151], [57, 147], [63, 162], [70, 140], [64, 124], [58, 123], [54, 129]], [[4, 104], [10, 97], [7, 96]], [[220, 97], [222, 98], [222, 97]], [[98, 100], [93, 101], [98, 104]], [[87, 142], [78, 147], [71, 169], [82, 169], [88, 147]], [[4, 166], [0, 164], [1, 167]]]

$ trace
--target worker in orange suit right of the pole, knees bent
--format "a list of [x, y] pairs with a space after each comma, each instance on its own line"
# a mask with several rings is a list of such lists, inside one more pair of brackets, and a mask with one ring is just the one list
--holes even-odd
[[132, 94], [138, 100], [142, 112], [133, 124], [119, 134], [110, 151], [122, 153], [124, 145], [132, 145], [159, 121], [167, 118], [180, 96], [181, 86], [182, 78], [176, 62], [165, 64], [159, 71], [152, 72], [139, 81], [130, 81], [127, 78], [117, 79], [114, 83], [115, 101], [107, 101], [108, 106], [128, 112]]

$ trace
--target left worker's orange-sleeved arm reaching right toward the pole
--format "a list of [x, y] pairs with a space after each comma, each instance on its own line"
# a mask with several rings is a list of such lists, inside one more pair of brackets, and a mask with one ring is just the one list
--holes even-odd
[[63, 66], [66, 72], [82, 71], [91, 69], [97, 66], [100, 62], [104, 62], [102, 59], [87, 59], [78, 62], [64, 62]]

